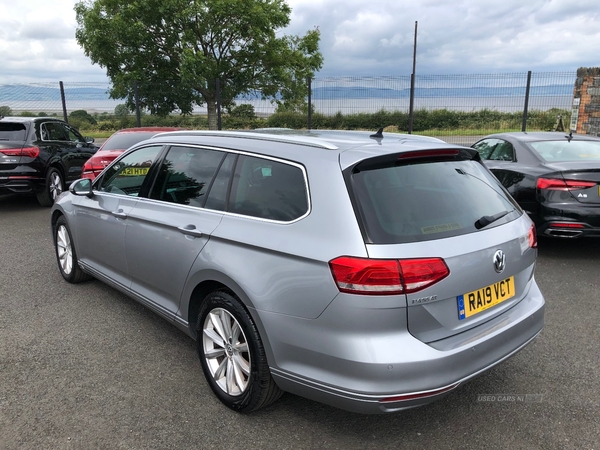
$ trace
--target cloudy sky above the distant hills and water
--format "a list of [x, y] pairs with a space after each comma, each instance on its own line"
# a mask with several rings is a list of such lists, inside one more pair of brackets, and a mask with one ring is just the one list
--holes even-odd
[[[0, 0], [0, 83], [106, 81], [75, 42], [75, 0]], [[598, 0], [288, 0], [321, 31], [317, 76], [571, 72], [600, 66]]]

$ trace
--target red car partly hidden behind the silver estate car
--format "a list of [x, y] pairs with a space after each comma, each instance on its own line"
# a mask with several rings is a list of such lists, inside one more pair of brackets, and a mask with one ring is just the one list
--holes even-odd
[[104, 170], [117, 156], [134, 144], [151, 138], [155, 134], [167, 131], [178, 131], [182, 128], [174, 127], [141, 127], [124, 128], [109, 137], [98, 151], [83, 165], [82, 178], [93, 180]]

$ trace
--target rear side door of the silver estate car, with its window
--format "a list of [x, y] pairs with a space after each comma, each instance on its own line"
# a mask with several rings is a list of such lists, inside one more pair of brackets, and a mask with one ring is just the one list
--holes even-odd
[[158, 312], [177, 312], [189, 270], [221, 221], [222, 214], [204, 203], [225, 156], [201, 147], [171, 147], [148, 198], [129, 214], [125, 251], [132, 289]]

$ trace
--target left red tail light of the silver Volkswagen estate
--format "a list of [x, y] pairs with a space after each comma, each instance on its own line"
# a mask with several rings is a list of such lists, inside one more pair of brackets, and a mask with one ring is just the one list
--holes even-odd
[[408, 294], [450, 274], [441, 258], [367, 259], [341, 256], [329, 262], [341, 292], [367, 295]]

